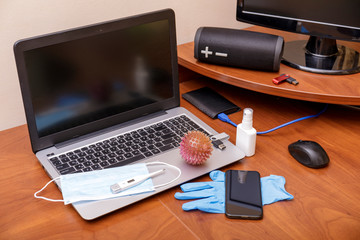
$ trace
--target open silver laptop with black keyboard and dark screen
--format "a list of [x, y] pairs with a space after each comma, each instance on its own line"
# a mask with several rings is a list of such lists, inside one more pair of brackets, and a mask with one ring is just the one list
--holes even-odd
[[[98, 218], [244, 157], [225, 140], [226, 148], [214, 149], [203, 165], [181, 158], [186, 131], [218, 133], [180, 107], [176, 46], [171, 9], [15, 43], [32, 150], [50, 178], [154, 161], [182, 171], [154, 192], [73, 203], [82, 218]], [[188, 130], [180, 123], [188, 123]], [[139, 139], [142, 145], [135, 148], [131, 141]], [[154, 185], [177, 174], [166, 169]]]

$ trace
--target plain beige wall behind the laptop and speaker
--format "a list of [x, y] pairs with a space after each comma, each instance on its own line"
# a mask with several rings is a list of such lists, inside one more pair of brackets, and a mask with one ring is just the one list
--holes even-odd
[[15, 41], [163, 8], [176, 14], [178, 44], [200, 26], [244, 28], [236, 0], [0, 0], [0, 130], [26, 123], [13, 55]]

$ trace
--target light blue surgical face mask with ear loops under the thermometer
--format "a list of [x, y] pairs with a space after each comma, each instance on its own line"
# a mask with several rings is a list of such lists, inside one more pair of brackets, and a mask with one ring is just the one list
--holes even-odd
[[[146, 165], [156, 165], [162, 164], [169, 167], [175, 168], [178, 170], [179, 175], [171, 180], [170, 182], [154, 186], [152, 179], [149, 178], [146, 181], [133, 186], [129, 189], [126, 189], [120, 193], [112, 193], [110, 186], [114, 183], [125, 181], [127, 179], [149, 174], [148, 168]], [[155, 188], [160, 186], [165, 186], [176, 181], [181, 175], [179, 168], [163, 163], [163, 162], [153, 162], [153, 163], [139, 163], [133, 165], [127, 165], [117, 168], [109, 168], [99, 171], [91, 171], [84, 173], [75, 173], [62, 175], [58, 178], [55, 178], [49, 181], [41, 190], [34, 194], [35, 198], [45, 199], [53, 202], [64, 202], [64, 204], [70, 204], [80, 201], [92, 201], [92, 200], [103, 200], [116, 198], [121, 196], [129, 196], [134, 194], [141, 194], [152, 192]], [[51, 182], [55, 180], [60, 180], [61, 192], [64, 200], [49, 199], [46, 197], [38, 196], [38, 194], [43, 191]]]

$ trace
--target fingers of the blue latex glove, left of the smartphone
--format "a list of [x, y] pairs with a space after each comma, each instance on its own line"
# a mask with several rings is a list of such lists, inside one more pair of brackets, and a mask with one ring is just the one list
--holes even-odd
[[209, 213], [225, 213], [225, 173], [210, 172], [213, 182], [185, 183], [180, 186], [183, 193], [175, 193], [179, 200], [199, 199], [182, 205], [183, 210], [200, 210]]

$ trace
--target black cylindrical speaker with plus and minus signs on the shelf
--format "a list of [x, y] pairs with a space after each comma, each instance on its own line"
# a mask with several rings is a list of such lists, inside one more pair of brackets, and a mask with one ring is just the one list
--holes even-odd
[[214, 27], [199, 28], [194, 44], [199, 61], [274, 72], [279, 71], [284, 49], [280, 36]]

